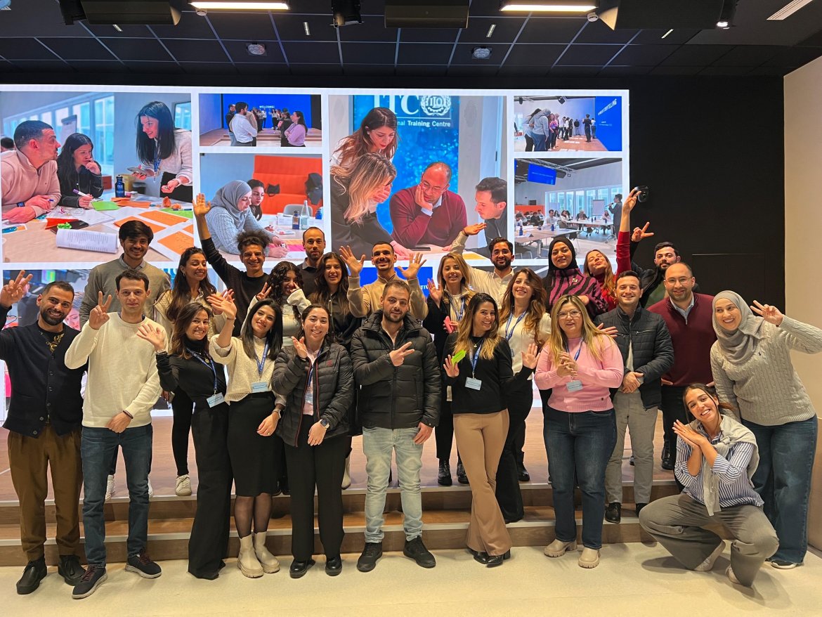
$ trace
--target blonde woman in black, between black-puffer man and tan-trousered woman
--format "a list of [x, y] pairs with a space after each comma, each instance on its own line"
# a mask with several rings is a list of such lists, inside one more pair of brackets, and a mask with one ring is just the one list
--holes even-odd
[[[471, 268], [459, 253], [448, 253], [442, 257], [439, 270], [436, 271], [436, 283], [428, 281], [428, 314], [423, 320], [423, 327], [434, 336], [436, 357], [445, 362], [442, 355], [446, 339], [454, 332], [465, 314], [465, 308], [473, 296], [471, 290]], [[446, 321], [447, 319], [447, 321]], [[443, 375], [445, 378], [445, 375]], [[436, 457], [440, 461], [436, 481], [441, 486], [450, 486], [451, 480], [451, 443], [454, 441], [454, 415], [451, 414], [451, 388], [442, 388], [440, 423], [434, 430], [436, 437]], [[457, 481], [468, 484], [468, 476], [462, 459], [457, 451]]]

